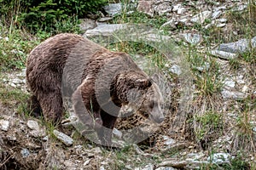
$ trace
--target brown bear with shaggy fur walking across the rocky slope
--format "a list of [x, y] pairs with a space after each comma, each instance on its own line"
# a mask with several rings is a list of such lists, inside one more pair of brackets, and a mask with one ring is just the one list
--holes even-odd
[[34, 48], [26, 61], [26, 81], [32, 111], [42, 110], [46, 121], [59, 122], [62, 97], [70, 97], [83, 122], [96, 121], [102, 144], [111, 144], [122, 105], [133, 105], [154, 122], [164, 120], [160, 88], [131, 57], [79, 35], [62, 33]]

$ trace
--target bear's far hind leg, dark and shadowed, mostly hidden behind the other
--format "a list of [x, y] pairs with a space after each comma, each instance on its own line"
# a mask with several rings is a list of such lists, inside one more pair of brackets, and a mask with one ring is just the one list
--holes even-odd
[[35, 95], [32, 95], [30, 99], [27, 100], [27, 111], [37, 118], [42, 116], [42, 109]]

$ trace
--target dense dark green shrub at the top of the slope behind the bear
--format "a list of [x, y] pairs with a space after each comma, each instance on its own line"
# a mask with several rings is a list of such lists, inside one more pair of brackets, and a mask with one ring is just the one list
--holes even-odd
[[[64, 20], [78, 24], [85, 14], [96, 13], [107, 0], [0, 0], [1, 16], [29, 30], [55, 31]], [[60, 29], [59, 29], [60, 30]], [[67, 31], [64, 29], [63, 31]]]

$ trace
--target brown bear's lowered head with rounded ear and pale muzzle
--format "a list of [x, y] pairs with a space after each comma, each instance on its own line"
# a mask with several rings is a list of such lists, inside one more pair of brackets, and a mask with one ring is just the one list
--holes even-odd
[[117, 78], [117, 96], [135, 111], [149, 117], [154, 122], [163, 122], [165, 116], [161, 106], [163, 97], [158, 85], [143, 71], [127, 71]]

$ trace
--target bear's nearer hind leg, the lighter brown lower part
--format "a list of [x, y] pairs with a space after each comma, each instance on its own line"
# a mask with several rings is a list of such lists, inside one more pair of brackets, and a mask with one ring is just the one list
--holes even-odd
[[38, 101], [43, 110], [45, 121], [55, 124], [61, 122], [61, 117], [64, 112], [61, 91], [55, 93], [42, 92], [41, 95], [38, 96]]

